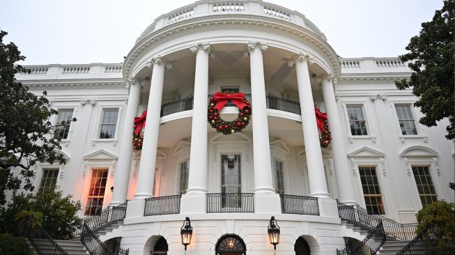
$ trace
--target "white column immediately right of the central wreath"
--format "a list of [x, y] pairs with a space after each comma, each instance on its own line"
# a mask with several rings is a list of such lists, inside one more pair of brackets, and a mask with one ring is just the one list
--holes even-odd
[[268, 45], [249, 42], [251, 70], [254, 193], [275, 193], [273, 188], [270, 142], [268, 139], [267, 103], [262, 52]]

